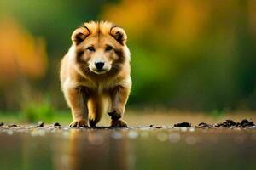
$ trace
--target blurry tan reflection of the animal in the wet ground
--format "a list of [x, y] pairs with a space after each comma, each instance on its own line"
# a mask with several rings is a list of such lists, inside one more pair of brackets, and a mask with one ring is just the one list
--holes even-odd
[[113, 138], [113, 134], [124, 136], [124, 131], [72, 129], [69, 133], [67, 144], [55, 153], [55, 169], [128, 169], [128, 141]]

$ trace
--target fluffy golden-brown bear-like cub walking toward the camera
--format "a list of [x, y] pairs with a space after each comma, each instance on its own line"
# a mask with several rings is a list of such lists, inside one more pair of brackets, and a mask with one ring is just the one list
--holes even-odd
[[131, 90], [130, 52], [125, 31], [109, 22], [86, 22], [73, 31], [61, 60], [61, 90], [71, 108], [70, 127], [95, 127], [103, 113], [111, 127], [122, 120]]

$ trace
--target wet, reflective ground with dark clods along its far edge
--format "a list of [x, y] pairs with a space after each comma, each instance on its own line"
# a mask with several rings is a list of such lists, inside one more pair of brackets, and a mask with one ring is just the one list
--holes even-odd
[[256, 126], [241, 122], [123, 129], [3, 125], [0, 169], [255, 169]]

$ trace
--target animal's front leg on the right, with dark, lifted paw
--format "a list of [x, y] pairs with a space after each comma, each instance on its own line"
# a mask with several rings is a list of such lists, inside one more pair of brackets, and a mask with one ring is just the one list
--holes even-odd
[[117, 86], [111, 93], [112, 105], [108, 112], [111, 117], [111, 127], [127, 127], [126, 122], [122, 120], [125, 113], [125, 105], [130, 94], [130, 88]]

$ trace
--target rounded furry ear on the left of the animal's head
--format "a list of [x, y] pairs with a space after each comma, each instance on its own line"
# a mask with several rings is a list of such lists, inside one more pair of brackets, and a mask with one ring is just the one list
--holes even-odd
[[73, 31], [73, 34], [71, 36], [71, 40], [73, 44], [79, 45], [79, 43], [83, 42], [86, 37], [90, 35], [90, 31], [87, 27], [79, 27], [75, 31]]

